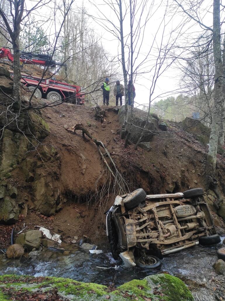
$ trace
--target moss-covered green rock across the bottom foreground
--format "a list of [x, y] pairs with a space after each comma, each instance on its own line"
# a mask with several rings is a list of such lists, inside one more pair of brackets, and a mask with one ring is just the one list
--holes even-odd
[[[171, 275], [151, 275], [143, 280], [132, 280], [115, 290], [105, 285], [84, 283], [68, 278], [3, 275], [0, 276], [0, 300], [18, 298], [20, 294], [30, 297], [39, 291], [42, 296], [51, 296], [53, 290], [61, 299], [69, 300], [164, 300], [193, 301], [194, 298], [186, 285]], [[4, 289], [6, 288], [6, 290]], [[10, 287], [10, 290], [7, 288]], [[1, 299], [2, 298], [2, 299]]]

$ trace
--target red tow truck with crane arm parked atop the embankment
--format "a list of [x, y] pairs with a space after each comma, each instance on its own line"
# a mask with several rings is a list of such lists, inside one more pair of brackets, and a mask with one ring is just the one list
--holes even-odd
[[[0, 48], [0, 59], [7, 57], [8, 60], [13, 62], [14, 56], [8, 48]], [[29, 52], [20, 53], [20, 64], [32, 64], [55, 67], [56, 65], [65, 66], [66, 64], [56, 63], [51, 60], [51, 56], [47, 54], [34, 54]], [[13, 76], [13, 72], [10, 72]], [[34, 96], [39, 98], [47, 98], [51, 101], [58, 101], [60, 99], [66, 99], [66, 102], [73, 104], [84, 104], [84, 94], [81, 93], [81, 87], [71, 85], [66, 82], [61, 82], [52, 77], [51, 79], [41, 79], [37, 76], [21, 73], [21, 82], [33, 92], [35, 87], [39, 84], [39, 87], [35, 90]]]

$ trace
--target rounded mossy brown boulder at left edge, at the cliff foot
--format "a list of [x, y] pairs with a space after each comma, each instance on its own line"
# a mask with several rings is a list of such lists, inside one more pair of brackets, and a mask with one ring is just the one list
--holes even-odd
[[0, 200], [0, 223], [14, 224], [19, 217], [19, 207], [14, 199], [5, 197]]

